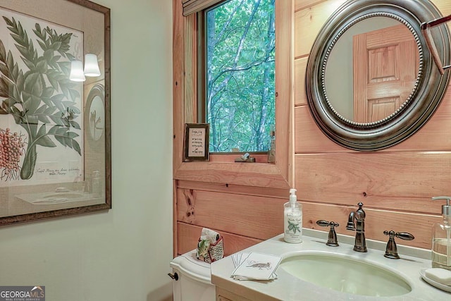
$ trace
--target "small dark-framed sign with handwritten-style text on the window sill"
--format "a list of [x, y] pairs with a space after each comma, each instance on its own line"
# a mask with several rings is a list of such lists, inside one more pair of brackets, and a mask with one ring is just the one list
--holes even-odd
[[185, 123], [185, 160], [209, 160], [209, 123]]

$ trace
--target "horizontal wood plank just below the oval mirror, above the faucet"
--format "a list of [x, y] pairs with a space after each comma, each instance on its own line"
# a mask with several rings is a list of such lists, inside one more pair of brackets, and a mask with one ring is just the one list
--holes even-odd
[[300, 199], [440, 214], [436, 195], [451, 195], [451, 152], [372, 152], [295, 156]]

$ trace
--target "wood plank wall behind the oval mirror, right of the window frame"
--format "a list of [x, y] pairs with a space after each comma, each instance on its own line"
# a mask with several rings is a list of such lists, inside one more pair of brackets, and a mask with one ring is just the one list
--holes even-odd
[[[409, 232], [415, 240], [397, 243], [430, 248], [443, 204], [431, 197], [451, 195], [451, 90], [424, 128], [395, 147], [355, 152], [331, 142], [311, 118], [304, 78], [316, 35], [343, 2], [295, 4], [295, 188], [304, 201], [304, 226], [332, 220], [340, 223], [338, 233], [352, 235], [345, 229], [347, 215], [363, 202], [366, 238], [387, 240], [385, 230]], [[433, 2], [443, 15], [451, 13], [449, 1]]]

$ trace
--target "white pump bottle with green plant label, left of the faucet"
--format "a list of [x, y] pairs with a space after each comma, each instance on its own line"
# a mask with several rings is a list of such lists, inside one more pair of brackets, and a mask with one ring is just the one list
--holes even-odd
[[283, 205], [283, 240], [302, 242], [302, 204], [297, 202], [294, 188], [290, 189], [290, 202]]

